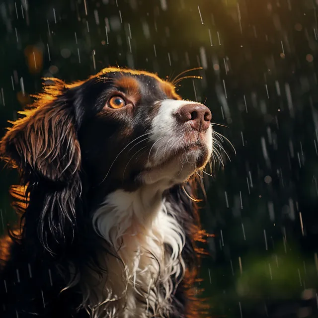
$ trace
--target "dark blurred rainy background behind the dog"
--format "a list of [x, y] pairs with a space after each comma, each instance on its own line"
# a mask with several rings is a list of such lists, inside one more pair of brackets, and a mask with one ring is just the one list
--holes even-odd
[[[42, 77], [120, 66], [184, 79], [227, 137], [205, 176], [201, 287], [211, 316], [318, 317], [315, 0], [0, 1], [0, 135]], [[107, 35], [106, 35], [107, 28]], [[221, 152], [221, 151], [220, 151]], [[0, 167], [0, 233], [13, 222]]]

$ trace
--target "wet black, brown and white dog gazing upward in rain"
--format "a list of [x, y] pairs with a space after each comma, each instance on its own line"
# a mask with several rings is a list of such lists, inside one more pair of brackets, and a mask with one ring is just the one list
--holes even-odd
[[153, 73], [46, 79], [0, 141], [20, 225], [0, 240], [2, 318], [199, 317], [196, 176], [211, 111]]

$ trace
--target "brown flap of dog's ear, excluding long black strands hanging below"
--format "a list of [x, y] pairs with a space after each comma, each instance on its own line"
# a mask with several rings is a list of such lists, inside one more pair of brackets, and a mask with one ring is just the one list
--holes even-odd
[[80, 148], [68, 89], [56, 81], [34, 107], [13, 124], [0, 142], [1, 157], [34, 181], [71, 182], [79, 169]]

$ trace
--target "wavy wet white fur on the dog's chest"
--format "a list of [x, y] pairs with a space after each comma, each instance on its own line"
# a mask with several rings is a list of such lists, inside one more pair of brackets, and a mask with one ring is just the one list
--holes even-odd
[[118, 256], [106, 256], [108, 272], [102, 281], [91, 277], [95, 295], [86, 297], [94, 318], [169, 314], [175, 282], [184, 274], [185, 235], [169, 203], [155, 198], [149, 205], [145, 195], [117, 190], [94, 214], [96, 232]]

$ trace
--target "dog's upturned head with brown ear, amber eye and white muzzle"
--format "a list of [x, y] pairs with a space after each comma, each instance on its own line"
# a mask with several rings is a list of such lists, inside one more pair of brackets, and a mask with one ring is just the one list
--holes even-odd
[[0, 153], [19, 167], [25, 183], [42, 192], [57, 189], [51, 205], [62, 212], [57, 217], [48, 208], [39, 223], [48, 222], [61, 238], [65, 223], [76, 223], [81, 172], [105, 194], [150, 184], [164, 190], [210, 159], [210, 110], [183, 100], [152, 73], [107, 68], [73, 84], [48, 81], [34, 107], [5, 134]]

